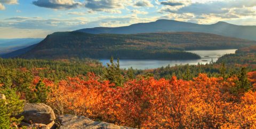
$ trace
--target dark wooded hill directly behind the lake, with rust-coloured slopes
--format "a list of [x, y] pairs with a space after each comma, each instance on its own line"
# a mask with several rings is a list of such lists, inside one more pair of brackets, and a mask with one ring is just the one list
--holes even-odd
[[241, 48], [253, 44], [256, 41], [197, 32], [94, 35], [73, 31], [52, 33], [39, 44], [2, 57], [109, 59], [114, 56], [121, 59], [197, 59], [200, 58], [198, 55], [184, 50]]

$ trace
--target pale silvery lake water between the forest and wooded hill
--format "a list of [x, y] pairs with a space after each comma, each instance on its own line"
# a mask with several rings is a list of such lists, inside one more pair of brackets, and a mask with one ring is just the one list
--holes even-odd
[[[190, 53], [195, 53], [201, 56], [201, 59], [190, 59], [190, 60], [173, 60], [173, 61], [163, 61], [157, 59], [120, 59], [120, 68], [130, 68], [133, 67], [134, 69], [151, 69], [151, 68], [158, 68], [162, 66], [170, 66], [180, 65], [180, 64], [206, 64], [210, 63], [212, 60], [216, 62], [219, 57], [225, 54], [234, 54], [237, 49], [225, 49], [225, 50], [188, 50]], [[109, 59], [100, 59], [103, 65], [107, 65], [109, 63]]]

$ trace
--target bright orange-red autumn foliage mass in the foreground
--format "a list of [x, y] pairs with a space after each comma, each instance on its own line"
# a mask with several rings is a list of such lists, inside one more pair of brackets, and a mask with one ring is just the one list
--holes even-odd
[[199, 74], [192, 81], [141, 78], [115, 87], [90, 73], [52, 85], [47, 104], [57, 114], [137, 128], [255, 128], [256, 92], [233, 94], [236, 80]]

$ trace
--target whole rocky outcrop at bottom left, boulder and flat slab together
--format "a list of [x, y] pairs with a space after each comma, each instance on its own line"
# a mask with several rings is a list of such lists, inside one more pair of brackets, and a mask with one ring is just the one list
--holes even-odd
[[[106, 122], [94, 122], [84, 116], [63, 115], [55, 119], [55, 115], [51, 107], [45, 104], [25, 104], [23, 112], [20, 114], [24, 116], [20, 126], [27, 126], [27, 128], [49, 129], [49, 128], [113, 128], [122, 129], [130, 127], [118, 126]], [[59, 124], [55, 126], [55, 121]], [[57, 124], [56, 123], [56, 124]]]

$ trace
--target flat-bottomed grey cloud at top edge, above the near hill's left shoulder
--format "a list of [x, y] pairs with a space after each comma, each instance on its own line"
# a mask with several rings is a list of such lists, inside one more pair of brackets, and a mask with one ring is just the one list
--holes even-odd
[[39, 7], [53, 8], [53, 9], [71, 9], [82, 5], [81, 2], [74, 0], [37, 0], [33, 4]]

